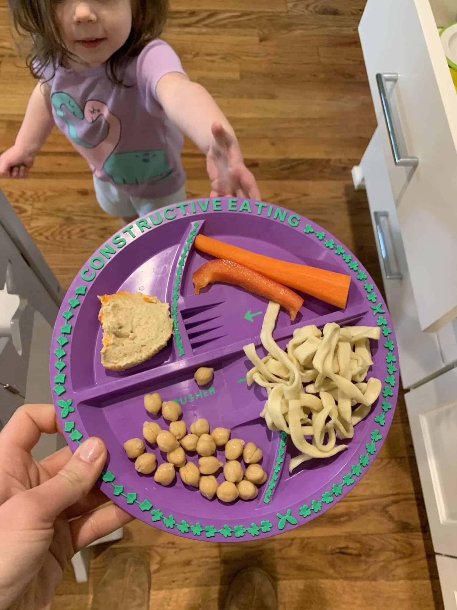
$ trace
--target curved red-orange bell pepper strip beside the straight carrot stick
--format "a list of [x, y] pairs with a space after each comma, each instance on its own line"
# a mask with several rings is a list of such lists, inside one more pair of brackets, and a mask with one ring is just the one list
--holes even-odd
[[192, 276], [196, 295], [201, 288], [213, 282], [235, 284], [258, 296], [264, 296], [269, 301], [279, 303], [288, 310], [291, 320], [295, 320], [298, 310], [303, 305], [303, 299], [282, 284], [278, 284], [264, 275], [252, 271], [230, 260], [208, 260]]

